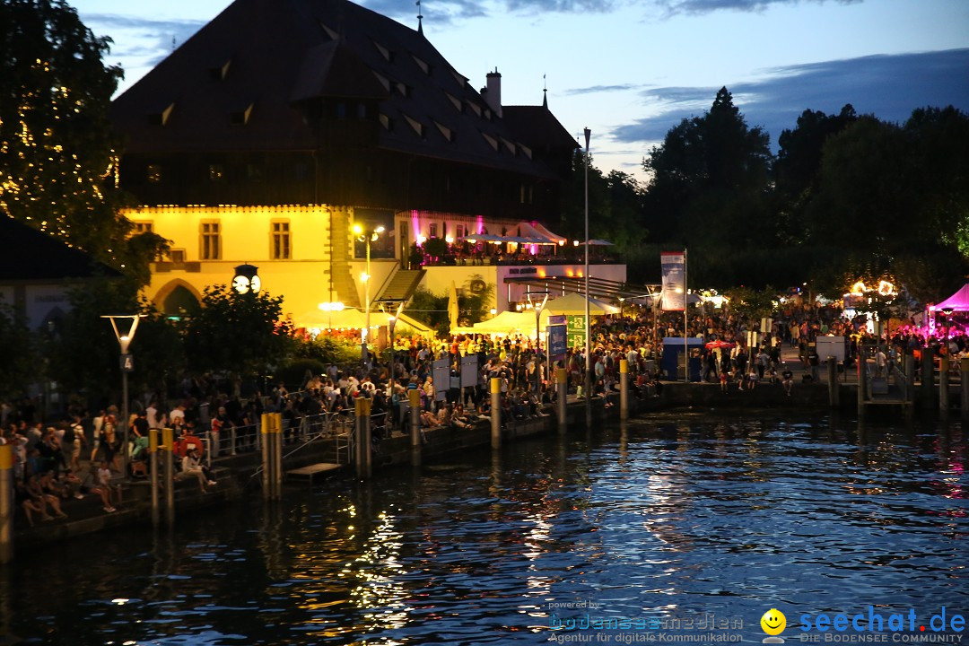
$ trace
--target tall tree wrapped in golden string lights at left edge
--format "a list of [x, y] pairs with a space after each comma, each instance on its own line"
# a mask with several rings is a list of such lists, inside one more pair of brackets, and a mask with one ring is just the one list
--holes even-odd
[[63, 0], [0, 4], [0, 211], [147, 283], [165, 240], [119, 214], [108, 119], [122, 77]]

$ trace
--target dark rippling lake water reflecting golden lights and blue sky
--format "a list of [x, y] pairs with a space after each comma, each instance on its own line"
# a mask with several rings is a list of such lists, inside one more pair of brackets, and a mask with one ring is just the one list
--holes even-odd
[[[504, 644], [549, 602], [602, 617], [969, 611], [958, 425], [679, 415], [288, 488], [23, 554], [0, 629], [25, 643]], [[2, 640], [0, 640], [2, 641]]]

